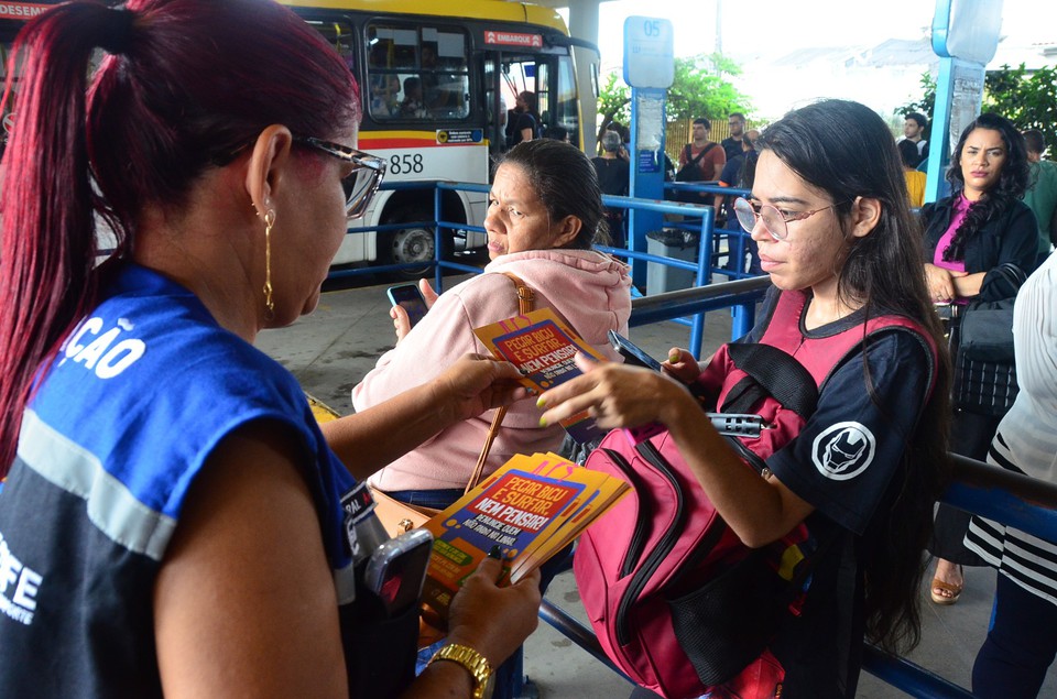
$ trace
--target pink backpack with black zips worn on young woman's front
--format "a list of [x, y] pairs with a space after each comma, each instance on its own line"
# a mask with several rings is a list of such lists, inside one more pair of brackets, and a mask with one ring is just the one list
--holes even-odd
[[[906, 318], [874, 318], [811, 340], [818, 347], [797, 353], [805, 365], [792, 356], [804, 341], [797, 325], [804, 301], [783, 293], [761, 343], [723, 346], [697, 382], [718, 396], [720, 412], [756, 413], [770, 426], [758, 438], [728, 437], [756, 471], [796, 437], [820, 386], [865, 336], [905, 328], [925, 337]], [[720, 685], [729, 692], [716, 696], [778, 696], [784, 671], [767, 645], [783, 620], [798, 613], [808, 576], [831, 542], [809, 540], [802, 523], [778, 542], [748, 548], [667, 430], [638, 445], [614, 430], [585, 466], [634, 487], [584, 533], [574, 560], [606, 654], [636, 684], [672, 699]]]

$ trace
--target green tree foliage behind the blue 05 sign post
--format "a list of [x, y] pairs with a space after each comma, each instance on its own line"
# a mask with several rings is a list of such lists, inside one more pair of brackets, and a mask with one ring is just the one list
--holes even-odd
[[[751, 111], [749, 98], [728, 79], [740, 74], [738, 64], [719, 54], [676, 58], [675, 77], [665, 106], [668, 121], [697, 117], [721, 119], [732, 111]], [[618, 80], [615, 73], [609, 74], [598, 96], [599, 136], [613, 120], [628, 123], [630, 103], [631, 90], [623, 80]]]

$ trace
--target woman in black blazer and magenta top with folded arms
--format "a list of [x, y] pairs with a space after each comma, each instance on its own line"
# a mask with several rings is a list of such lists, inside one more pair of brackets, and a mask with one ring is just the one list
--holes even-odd
[[[1035, 269], [1038, 238], [1032, 210], [1021, 199], [1028, 184], [1024, 138], [1004, 117], [980, 114], [961, 133], [947, 172], [954, 194], [922, 208], [925, 278], [933, 302], [965, 307], [974, 299], [1016, 294], [1003, 265], [1023, 275]], [[951, 425], [955, 454], [982, 461], [1002, 415], [957, 408]], [[954, 604], [965, 589], [963, 566], [983, 561], [962, 540], [969, 513], [940, 503], [929, 551], [936, 556], [930, 597]]]

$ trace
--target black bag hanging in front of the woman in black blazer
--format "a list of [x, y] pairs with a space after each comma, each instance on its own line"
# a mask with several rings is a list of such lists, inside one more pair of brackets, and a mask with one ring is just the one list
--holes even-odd
[[961, 309], [950, 334], [956, 408], [1001, 417], [1016, 400], [1013, 302], [1025, 278], [1018, 266], [1003, 263], [985, 280], [980, 299]]

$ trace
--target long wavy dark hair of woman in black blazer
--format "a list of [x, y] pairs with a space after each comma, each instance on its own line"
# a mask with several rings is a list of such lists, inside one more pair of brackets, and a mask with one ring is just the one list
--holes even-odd
[[965, 260], [966, 245], [980, 233], [988, 221], [1004, 214], [1013, 204], [1024, 198], [1027, 189], [1031, 164], [1027, 162], [1027, 148], [1024, 136], [1016, 127], [1006, 119], [994, 113], [983, 113], [976, 118], [961, 132], [958, 145], [950, 159], [947, 170], [947, 181], [950, 182], [957, 196], [966, 188], [966, 176], [961, 174], [961, 153], [966, 148], [969, 134], [977, 129], [998, 131], [1005, 145], [1006, 160], [1002, 164], [1002, 172], [994, 185], [983, 193], [983, 196], [973, 201], [966, 212], [965, 220], [955, 231], [950, 245], [944, 251], [944, 260]]

